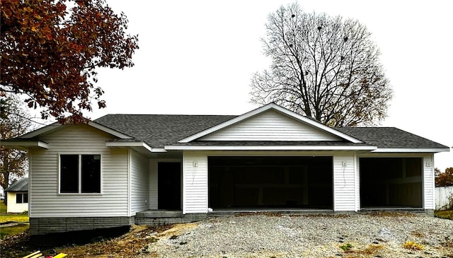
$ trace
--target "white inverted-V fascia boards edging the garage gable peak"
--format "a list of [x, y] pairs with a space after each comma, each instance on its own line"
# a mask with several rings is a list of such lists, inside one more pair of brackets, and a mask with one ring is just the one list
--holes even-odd
[[198, 139], [202, 136], [205, 136], [207, 134], [211, 134], [212, 132], [214, 131], [218, 131], [219, 129], [222, 129], [224, 127], [228, 127], [229, 125], [231, 124], [236, 124], [237, 122], [241, 122], [242, 120], [244, 119], [247, 119], [248, 117], [253, 117], [254, 115], [258, 115], [259, 113], [261, 112], [265, 112], [266, 110], [270, 110], [270, 109], [274, 109], [274, 110], [277, 110], [279, 112], [282, 112], [284, 113], [285, 115], [288, 115], [289, 117], [293, 117], [294, 119], [298, 119], [302, 122], [305, 122], [306, 124], [310, 124], [311, 126], [313, 127], [316, 127], [318, 129], [321, 129], [323, 131], [326, 131], [330, 134], [333, 134], [333, 135], [336, 135], [342, 139], [345, 139], [347, 141], [351, 141], [352, 143], [362, 143], [362, 141], [358, 140], [358, 139], [355, 139], [351, 136], [348, 136], [348, 134], [343, 134], [342, 132], [340, 131], [337, 131], [335, 129], [332, 129], [331, 127], [327, 127], [319, 122], [316, 122], [314, 120], [311, 120], [309, 118], [306, 118], [302, 115], [299, 115], [297, 113], [294, 113], [292, 112], [291, 110], [287, 110], [285, 107], [280, 107], [279, 105], [275, 104], [275, 103], [270, 103], [268, 105], [265, 105], [263, 107], [259, 107], [257, 108], [256, 110], [252, 110], [250, 112], [247, 112], [243, 115], [240, 115], [239, 117], [234, 117], [233, 119], [230, 119], [226, 122], [223, 122], [222, 124], [217, 124], [217, 126], [215, 127], [211, 127], [210, 129], [206, 129], [205, 131], [200, 131], [199, 133], [197, 134], [193, 134], [192, 136], [189, 136], [185, 139], [182, 139], [180, 141], [178, 141], [178, 143], [188, 143], [190, 141], [193, 141], [195, 139]]

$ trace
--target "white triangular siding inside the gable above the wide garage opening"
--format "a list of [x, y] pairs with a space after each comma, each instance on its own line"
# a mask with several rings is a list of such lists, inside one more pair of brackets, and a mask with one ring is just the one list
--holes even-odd
[[338, 141], [338, 137], [268, 110], [230, 127], [203, 136], [200, 141]]

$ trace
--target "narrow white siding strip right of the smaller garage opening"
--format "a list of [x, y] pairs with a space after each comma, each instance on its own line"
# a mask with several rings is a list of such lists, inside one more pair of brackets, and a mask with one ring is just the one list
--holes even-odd
[[435, 209], [434, 154], [423, 156], [423, 209]]

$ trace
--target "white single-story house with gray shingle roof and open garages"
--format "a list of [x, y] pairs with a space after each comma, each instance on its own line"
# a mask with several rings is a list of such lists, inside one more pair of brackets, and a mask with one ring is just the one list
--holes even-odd
[[27, 148], [30, 234], [243, 211], [435, 209], [434, 153], [393, 127], [331, 128], [273, 103], [243, 115], [105, 115]]

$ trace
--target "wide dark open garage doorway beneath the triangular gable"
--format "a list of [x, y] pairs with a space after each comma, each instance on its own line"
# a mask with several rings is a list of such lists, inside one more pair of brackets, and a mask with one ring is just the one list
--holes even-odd
[[332, 157], [210, 156], [212, 209], [333, 209]]

